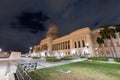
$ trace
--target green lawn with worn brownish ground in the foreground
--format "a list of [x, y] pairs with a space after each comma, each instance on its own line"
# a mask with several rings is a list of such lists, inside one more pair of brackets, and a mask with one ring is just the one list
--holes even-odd
[[[71, 72], [63, 73], [59, 69]], [[120, 80], [120, 64], [82, 61], [38, 69], [35, 73], [45, 80]]]

